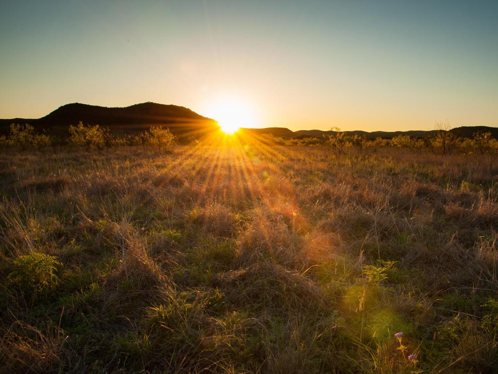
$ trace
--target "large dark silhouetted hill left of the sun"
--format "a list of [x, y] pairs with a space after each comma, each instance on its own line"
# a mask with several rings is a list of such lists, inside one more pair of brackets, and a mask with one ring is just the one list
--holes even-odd
[[[135, 104], [129, 107], [108, 108], [87, 104], [67, 104], [38, 119], [0, 120], [0, 129], [11, 123], [29, 123], [37, 129], [67, 131], [69, 125], [108, 126], [113, 132], [143, 131], [151, 125], [164, 125], [179, 135], [217, 130], [216, 121], [203, 117], [188, 108], [156, 103]], [[5, 130], [4, 130], [5, 131]]]

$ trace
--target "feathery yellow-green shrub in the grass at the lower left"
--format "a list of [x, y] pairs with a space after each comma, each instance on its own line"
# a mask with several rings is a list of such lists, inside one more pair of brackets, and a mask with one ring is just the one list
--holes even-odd
[[25, 291], [43, 294], [57, 284], [55, 272], [59, 264], [55, 256], [31, 252], [14, 260], [8, 279]]

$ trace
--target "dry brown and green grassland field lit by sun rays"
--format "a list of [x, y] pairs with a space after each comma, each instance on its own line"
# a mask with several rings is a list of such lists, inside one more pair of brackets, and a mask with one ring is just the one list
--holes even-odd
[[0, 372], [498, 372], [490, 160], [234, 139], [1, 153]]

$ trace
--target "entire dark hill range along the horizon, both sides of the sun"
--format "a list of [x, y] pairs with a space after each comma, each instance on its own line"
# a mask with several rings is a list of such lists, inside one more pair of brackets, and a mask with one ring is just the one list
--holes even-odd
[[[152, 125], [169, 127], [176, 135], [188, 137], [202, 135], [219, 129], [214, 119], [203, 117], [194, 111], [177, 105], [165, 105], [152, 102], [135, 104], [128, 107], [101, 107], [88, 104], [66, 104], [45, 117], [37, 119], [13, 118], [0, 119], [0, 133], [8, 132], [11, 123], [29, 123], [35, 128], [50, 129], [53, 132], [67, 132], [69, 125], [77, 125], [82, 121], [85, 125], [101, 125], [109, 127], [114, 133], [132, 133], [148, 129]], [[471, 138], [478, 131], [490, 132], [498, 139], [498, 128], [488, 126], [463, 126], [451, 130], [462, 138]], [[285, 127], [267, 127], [264, 129], [242, 128], [241, 132], [253, 135], [271, 134], [282, 138], [321, 138], [333, 134], [328, 130], [298, 130], [291, 131]], [[346, 131], [347, 135], [360, 135], [367, 138], [390, 139], [398, 135], [408, 135], [423, 138], [434, 134], [435, 130], [422, 131]]]

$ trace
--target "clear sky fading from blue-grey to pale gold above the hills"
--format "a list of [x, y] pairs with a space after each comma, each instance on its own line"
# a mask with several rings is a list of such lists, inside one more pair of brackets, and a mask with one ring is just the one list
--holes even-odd
[[210, 117], [237, 103], [245, 125], [291, 130], [498, 127], [497, 14], [498, 1], [0, 0], [0, 118], [152, 101]]

